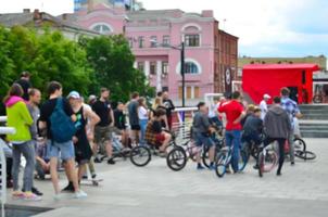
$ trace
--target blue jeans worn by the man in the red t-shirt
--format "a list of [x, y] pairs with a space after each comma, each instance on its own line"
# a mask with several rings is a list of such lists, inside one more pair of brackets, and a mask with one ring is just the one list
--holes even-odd
[[239, 152], [241, 146], [241, 130], [227, 130], [226, 131], [226, 143], [228, 146], [232, 146], [231, 166], [235, 173], [239, 170], [238, 161]]

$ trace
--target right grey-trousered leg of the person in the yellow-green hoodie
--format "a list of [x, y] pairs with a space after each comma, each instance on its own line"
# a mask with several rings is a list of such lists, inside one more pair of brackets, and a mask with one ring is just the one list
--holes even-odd
[[21, 145], [21, 151], [26, 159], [24, 169], [24, 190], [30, 192], [33, 188], [33, 174], [35, 168], [35, 146], [34, 143], [28, 141]]

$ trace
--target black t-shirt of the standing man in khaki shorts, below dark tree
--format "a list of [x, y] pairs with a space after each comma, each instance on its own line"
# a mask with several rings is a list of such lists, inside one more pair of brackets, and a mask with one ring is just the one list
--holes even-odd
[[97, 100], [97, 102], [92, 104], [92, 110], [100, 117], [100, 122], [97, 126], [106, 127], [112, 123], [110, 116], [111, 104], [109, 102]]

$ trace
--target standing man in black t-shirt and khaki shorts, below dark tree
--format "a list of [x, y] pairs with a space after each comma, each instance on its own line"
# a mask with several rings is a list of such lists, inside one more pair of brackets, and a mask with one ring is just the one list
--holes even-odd
[[[113, 137], [113, 127], [114, 127], [114, 113], [109, 102], [110, 90], [106, 88], [101, 88], [100, 90], [100, 99], [97, 100], [93, 105], [93, 112], [100, 117], [100, 122], [97, 124], [94, 128], [94, 142], [96, 153], [97, 148], [105, 151], [109, 159], [108, 164], [115, 164], [115, 161], [112, 158], [113, 156], [113, 146], [112, 146], [112, 137]], [[96, 163], [101, 163], [100, 156], [94, 158]]]

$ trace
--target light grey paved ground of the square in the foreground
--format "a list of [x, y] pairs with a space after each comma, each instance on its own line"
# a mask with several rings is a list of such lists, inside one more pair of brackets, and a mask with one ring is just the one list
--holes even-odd
[[[147, 167], [129, 161], [114, 166], [97, 165], [99, 187], [83, 186], [87, 199], [52, 199], [50, 181], [36, 181], [45, 196], [40, 202], [12, 201], [8, 204], [53, 208], [37, 217], [270, 217], [317, 216], [328, 213], [328, 139], [306, 139], [317, 154], [311, 162], [286, 163], [282, 176], [275, 173], [258, 178], [248, 165], [244, 173], [219, 179], [214, 171], [195, 170], [188, 162], [181, 171], [172, 171], [164, 158], [153, 158]], [[64, 175], [61, 186], [66, 184]]]

